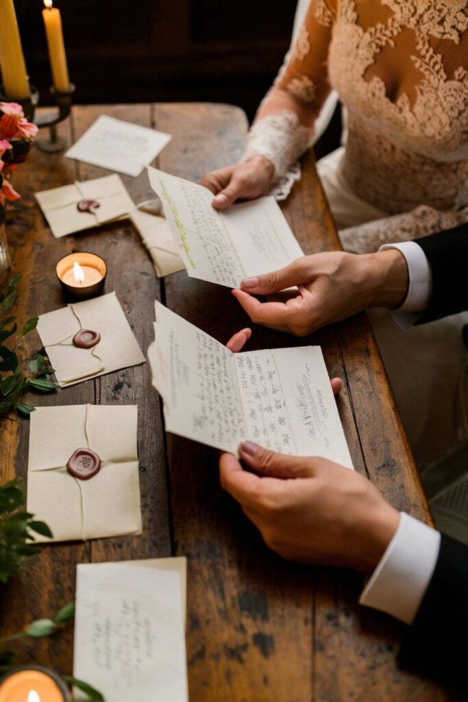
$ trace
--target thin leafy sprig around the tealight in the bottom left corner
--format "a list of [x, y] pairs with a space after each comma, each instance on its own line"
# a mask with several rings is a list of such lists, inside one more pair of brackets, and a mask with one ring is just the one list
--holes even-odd
[[[65, 607], [62, 607], [62, 609], [59, 609], [59, 611], [53, 619], [36, 619], [36, 621], [32, 621], [24, 628], [24, 630], [20, 631], [18, 634], [11, 634], [10, 636], [4, 636], [3, 638], [0, 638], [0, 644], [15, 641], [18, 639], [24, 639], [27, 637], [33, 639], [40, 639], [44, 636], [50, 636], [51, 634], [55, 634], [60, 629], [64, 628], [64, 626], [69, 621], [72, 621], [72, 619], [74, 619], [74, 616], [75, 605], [74, 602], [72, 602], [71, 604], [66, 604]], [[15, 665], [15, 658], [15, 651], [0, 652], [0, 678], [2, 673], [8, 673], [9, 670], [12, 670], [12, 668]], [[93, 702], [105, 702], [105, 699], [102, 696], [102, 694], [94, 687], [91, 687], [91, 685], [87, 682], [83, 682], [83, 680], [78, 680], [76, 677], [72, 677], [72, 675], [62, 675], [62, 678], [69, 685], [77, 687], [78, 689], [83, 691], [84, 694], [86, 694], [86, 696], [88, 696], [88, 698]]]

